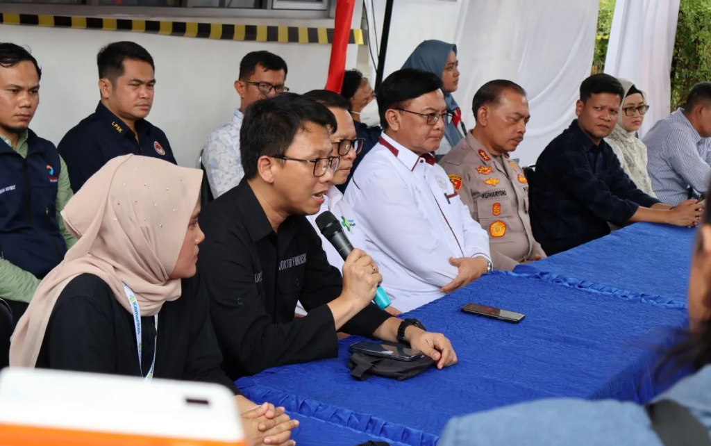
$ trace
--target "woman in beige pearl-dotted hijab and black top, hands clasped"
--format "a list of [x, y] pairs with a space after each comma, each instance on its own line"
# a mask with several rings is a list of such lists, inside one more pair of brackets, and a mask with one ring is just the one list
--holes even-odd
[[250, 445], [292, 445], [283, 408], [255, 404], [220, 369], [196, 276], [202, 172], [119, 156], [62, 212], [79, 240], [40, 283], [13, 334], [10, 366], [220, 383]]

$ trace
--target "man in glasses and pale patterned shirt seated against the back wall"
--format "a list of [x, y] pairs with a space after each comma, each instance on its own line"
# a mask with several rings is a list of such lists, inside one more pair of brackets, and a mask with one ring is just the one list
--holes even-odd
[[274, 97], [289, 91], [287, 63], [269, 51], [253, 51], [240, 62], [240, 77], [235, 80], [235, 90], [240, 95], [240, 108], [232, 121], [215, 129], [203, 147], [202, 164], [210, 183], [213, 198], [240, 184], [245, 171], [240, 155], [240, 129], [245, 110], [253, 102]]

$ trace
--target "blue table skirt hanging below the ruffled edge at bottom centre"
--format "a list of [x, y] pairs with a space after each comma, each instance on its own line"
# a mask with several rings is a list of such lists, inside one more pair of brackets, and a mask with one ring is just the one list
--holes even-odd
[[294, 414], [292, 418], [299, 420], [300, 423], [299, 427], [292, 432], [292, 440], [296, 440], [299, 446], [355, 446], [368, 441], [387, 442], [391, 446], [406, 446], [306, 415]]

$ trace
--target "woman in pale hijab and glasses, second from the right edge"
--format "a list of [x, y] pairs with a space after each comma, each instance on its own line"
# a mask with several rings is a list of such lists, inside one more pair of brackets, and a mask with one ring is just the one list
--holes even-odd
[[631, 81], [618, 78], [624, 88], [622, 106], [617, 118], [617, 125], [609, 137], [605, 138], [622, 165], [625, 173], [634, 181], [637, 188], [649, 196], [656, 197], [652, 182], [647, 173], [647, 147], [637, 137], [642, 127], [644, 115], [649, 110], [647, 97]]

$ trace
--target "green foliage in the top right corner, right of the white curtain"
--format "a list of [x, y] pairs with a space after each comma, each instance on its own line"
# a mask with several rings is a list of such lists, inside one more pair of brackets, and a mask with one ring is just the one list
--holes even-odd
[[711, 80], [711, 0], [681, 0], [671, 64], [671, 110], [695, 83]]

